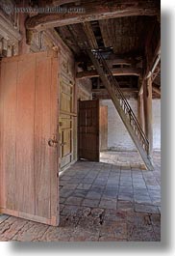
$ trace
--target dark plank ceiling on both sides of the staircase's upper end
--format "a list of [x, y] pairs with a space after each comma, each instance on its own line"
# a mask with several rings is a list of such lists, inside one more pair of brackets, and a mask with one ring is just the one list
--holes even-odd
[[[155, 16], [127, 16], [89, 23], [98, 48], [112, 48], [118, 56], [139, 57], [143, 54], [149, 28], [155, 22]], [[82, 42], [87, 41], [84, 25], [67, 25], [56, 30], [74, 54], [81, 56]]]

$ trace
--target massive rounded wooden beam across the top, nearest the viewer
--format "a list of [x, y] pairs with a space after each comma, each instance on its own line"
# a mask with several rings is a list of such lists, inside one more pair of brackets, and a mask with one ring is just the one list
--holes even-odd
[[[30, 30], [44, 30], [82, 23], [91, 20], [100, 20], [133, 15], [157, 15], [160, 11], [160, 1], [107, 1], [91, 0], [81, 1], [80, 5], [67, 4], [68, 10], [79, 8], [79, 12], [65, 12], [52, 14], [38, 14], [26, 20], [26, 28]], [[80, 11], [82, 10], [82, 12]]]

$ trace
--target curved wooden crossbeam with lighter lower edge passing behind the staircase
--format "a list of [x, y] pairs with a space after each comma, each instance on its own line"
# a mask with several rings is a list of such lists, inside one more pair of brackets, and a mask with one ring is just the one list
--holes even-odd
[[[140, 69], [132, 69], [132, 68], [117, 68], [111, 69], [113, 75], [137, 75], [140, 76], [141, 71]], [[81, 71], [77, 72], [76, 78], [83, 79], [83, 78], [91, 78], [91, 77], [98, 77], [99, 74], [97, 71]]]

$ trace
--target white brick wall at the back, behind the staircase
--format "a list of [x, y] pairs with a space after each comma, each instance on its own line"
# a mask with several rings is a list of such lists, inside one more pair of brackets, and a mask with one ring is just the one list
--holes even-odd
[[[137, 100], [129, 100], [137, 116]], [[102, 105], [108, 105], [108, 149], [117, 151], [136, 150], [127, 129], [124, 127], [112, 100], [101, 100]], [[153, 148], [161, 149], [161, 100], [153, 100]]]

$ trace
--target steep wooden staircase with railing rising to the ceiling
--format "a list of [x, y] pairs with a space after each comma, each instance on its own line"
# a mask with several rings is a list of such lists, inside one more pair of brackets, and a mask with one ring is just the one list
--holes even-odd
[[139, 155], [142, 157], [147, 169], [153, 170], [154, 167], [149, 156], [149, 141], [138, 124], [137, 118], [128, 100], [124, 97], [118, 82], [112, 75], [112, 71], [110, 71], [105, 59], [99, 51], [87, 49], [87, 54], [98, 72], [102, 83], [106, 87], [123, 124], [130, 133]]

